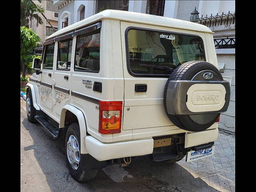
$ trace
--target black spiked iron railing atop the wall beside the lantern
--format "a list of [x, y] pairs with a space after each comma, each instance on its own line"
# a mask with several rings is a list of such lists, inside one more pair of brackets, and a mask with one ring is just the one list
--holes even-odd
[[216, 14], [215, 16], [203, 16], [198, 18], [196, 23], [200, 23], [202, 25], [205, 25], [207, 27], [215, 27], [215, 26], [221, 26], [221, 25], [232, 25], [232, 24], [236, 24], [236, 15], [235, 12], [234, 13], [230, 13], [230, 11], [228, 12], [228, 14], [224, 14], [224, 12], [222, 12], [222, 14]]

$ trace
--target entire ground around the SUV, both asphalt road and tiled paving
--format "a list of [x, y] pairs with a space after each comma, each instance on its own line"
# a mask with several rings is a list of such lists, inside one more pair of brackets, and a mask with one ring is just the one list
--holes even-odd
[[[83, 192], [234, 192], [235, 138], [219, 132], [216, 154], [193, 162], [151, 162], [146, 157], [132, 160], [128, 167], [108, 166], [85, 184], [69, 174], [60, 143], [52, 140], [39, 124], [26, 117], [20, 100], [21, 191]], [[177, 188], [175, 188], [175, 186]]]

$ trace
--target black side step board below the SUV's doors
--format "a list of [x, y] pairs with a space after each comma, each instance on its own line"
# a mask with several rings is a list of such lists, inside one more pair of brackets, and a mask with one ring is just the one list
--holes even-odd
[[35, 116], [35, 119], [43, 126], [43, 130], [52, 136], [54, 139], [59, 135], [59, 128], [54, 125], [48, 118], [45, 116]]

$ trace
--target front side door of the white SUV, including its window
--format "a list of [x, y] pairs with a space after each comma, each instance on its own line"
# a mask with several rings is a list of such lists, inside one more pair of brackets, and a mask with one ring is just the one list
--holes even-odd
[[53, 63], [54, 63], [55, 43], [46, 44], [44, 48], [44, 58], [42, 59], [42, 74], [39, 87], [40, 106], [47, 112], [53, 111]]

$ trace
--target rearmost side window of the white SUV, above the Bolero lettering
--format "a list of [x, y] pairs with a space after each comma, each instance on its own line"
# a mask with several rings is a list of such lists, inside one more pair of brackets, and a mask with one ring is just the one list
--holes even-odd
[[100, 71], [100, 33], [77, 36], [75, 71], [98, 73]]

